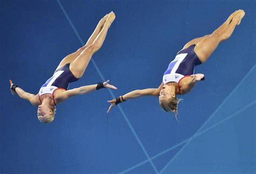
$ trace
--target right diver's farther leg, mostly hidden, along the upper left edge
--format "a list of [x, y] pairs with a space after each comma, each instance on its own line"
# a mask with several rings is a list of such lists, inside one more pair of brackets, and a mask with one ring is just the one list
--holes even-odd
[[[228, 24], [231, 23], [231, 20], [232, 20], [232, 18], [234, 17], [235, 13], [237, 13], [237, 11], [233, 12], [233, 13], [230, 15], [230, 17], [227, 18], [226, 22], [224, 22], [220, 27], [218, 27], [218, 29], [216, 29], [213, 33], [218, 33], [218, 32], [220, 32], [220, 31], [223, 31], [223, 30], [225, 29], [225, 27], [227, 27]], [[208, 35], [206, 35], [206, 36], [203, 36], [203, 37], [196, 38], [196, 39], [193, 39], [193, 40], [188, 41], [188, 43], [186, 43], [186, 45], [183, 47], [183, 50], [184, 50], [185, 48], [189, 47], [190, 45], [193, 45], [193, 44], [197, 45], [197, 44], [199, 43], [199, 41], [201, 41], [201, 40], [203, 40], [203, 39], [209, 37], [210, 35], [211, 35], [211, 34], [208, 34]]]

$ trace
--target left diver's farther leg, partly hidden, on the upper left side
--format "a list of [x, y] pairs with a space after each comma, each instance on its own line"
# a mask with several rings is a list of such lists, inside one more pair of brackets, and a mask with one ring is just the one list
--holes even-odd
[[59, 63], [56, 70], [59, 69], [60, 67], [64, 66], [65, 64], [71, 63], [73, 60], [75, 60], [78, 57], [78, 55], [80, 53], [82, 53], [82, 51], [84, 51], [84, 49], [87, 46], [92, 44], [93, 40], [95, 40], [95, 38], [98, 36], [99, 32], [102, 30], [108, 16], [109, 16], [109, 14], [105, 15], [102, 19], [100, 19], [98, 25], [96, 26], [95, 31], [93, 31], [93, 33], [92, 33], [91, 37], [88, 39], [87, 43], [83, 47], [80, 47], [76, 52], [73, 52], [73, 53], [67, 55], [64, 59], [62, 59], [62, 61]]

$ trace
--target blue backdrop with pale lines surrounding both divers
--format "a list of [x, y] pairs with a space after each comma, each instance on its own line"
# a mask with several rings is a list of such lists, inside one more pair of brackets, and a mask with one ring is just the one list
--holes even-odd
[[[107, 114], [106, 89], [59, 106], [50, 124], [9, 92], [9, 79], [36, 94], [100, 18], [116, 20], [93, 60], [114, 96], [157, 88], [187, 41], [210, 34], [237, 9], [246, 16], [196, 68], [206, 80], [179, 105], [179, 123], [158, 98]], [[1, 173], [255, 173], [255, 1], [1, 1]], [[70, 88], [103, 79], [90, 62]], [[122, 107], [122, 108], [121, 108]], [[149, 158], [150, 161], [149, 162]], [[138, 165], [137, 165], [138, 164]]]

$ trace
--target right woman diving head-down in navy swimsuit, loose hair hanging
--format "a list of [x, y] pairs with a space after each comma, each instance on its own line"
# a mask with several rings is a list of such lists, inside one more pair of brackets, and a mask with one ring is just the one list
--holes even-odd
[[174, 112], [177, 120], [177, 107], [180, 99], [177, 99], [176, 96], [191, 92], [198, 81], [204, 80], [204, 74], [194, 74], [194, 66], [204, 63], [219, 43], [231, 36], [235, 26], [240, 24], [244, 15], [244, 10], [237, 10], [212, 34], [189, 41], [169, 64], [163, 75], [163, 82], [158, 88], [137, 89], [107, 101], [111, 103], [107, 113], [120, 102], [153, 95], [159, 96], [160, 107], [165, 112]]

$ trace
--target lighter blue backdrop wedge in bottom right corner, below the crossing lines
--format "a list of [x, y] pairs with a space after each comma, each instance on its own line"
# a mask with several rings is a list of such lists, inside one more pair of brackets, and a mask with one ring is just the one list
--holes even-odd
[[[194, 138], [164, 173], [253, 173], [255, 107]], [[253, 171], [254, 170], [254, 171]]]

